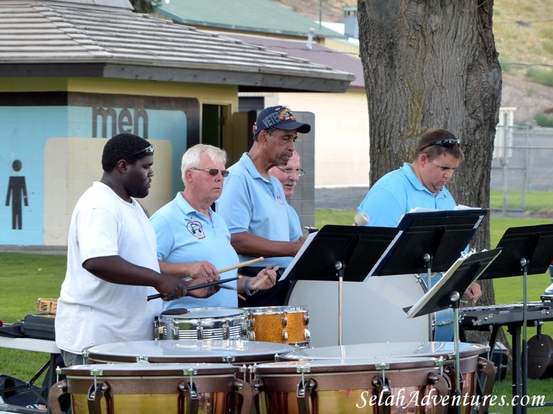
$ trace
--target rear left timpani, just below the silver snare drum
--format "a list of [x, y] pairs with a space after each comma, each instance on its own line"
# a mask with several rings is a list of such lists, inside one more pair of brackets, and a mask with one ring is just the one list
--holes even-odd
[[86, 348], [83, 356], [91, 363], [106, 362], [207, 362], [248, 365], [274, 362], [294, 348], [285, 344], [245, 340], [225, 341], [134, 341], [115, 342]]

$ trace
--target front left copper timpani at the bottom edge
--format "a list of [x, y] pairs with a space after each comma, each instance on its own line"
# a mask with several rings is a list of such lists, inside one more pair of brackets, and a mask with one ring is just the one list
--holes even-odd
[[50, 408], [71, 393], [73, 414], [250, 413], [250, 386], [230, 364], [92, 364], [59, 369]]

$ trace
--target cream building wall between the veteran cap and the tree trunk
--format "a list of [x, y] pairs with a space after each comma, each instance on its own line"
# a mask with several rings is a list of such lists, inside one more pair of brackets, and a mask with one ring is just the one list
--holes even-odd
[[315, 113], [315, 186], [368, 186], [366, 92], [274, 93], [265, 106]]

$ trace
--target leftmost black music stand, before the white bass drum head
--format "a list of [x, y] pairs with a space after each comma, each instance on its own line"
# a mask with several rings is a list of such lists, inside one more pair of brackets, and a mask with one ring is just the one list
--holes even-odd
[[283, 277], [290, 279], [339, 282], [339, 345], [342, 344], [343, 282], [363, 282], [397, 233], [397, 228], [391, 227], [326, 225], [286, 268]]

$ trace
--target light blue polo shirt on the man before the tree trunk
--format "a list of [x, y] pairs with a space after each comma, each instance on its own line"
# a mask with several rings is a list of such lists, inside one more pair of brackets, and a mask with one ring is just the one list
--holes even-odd
[[453, 210], [456, 202], [445, 187], [434, 196], [406, 162], [368, 190], [357, 212], [368, 215], [368, 226], [397, 227], [401, 217], [415, 207]]

